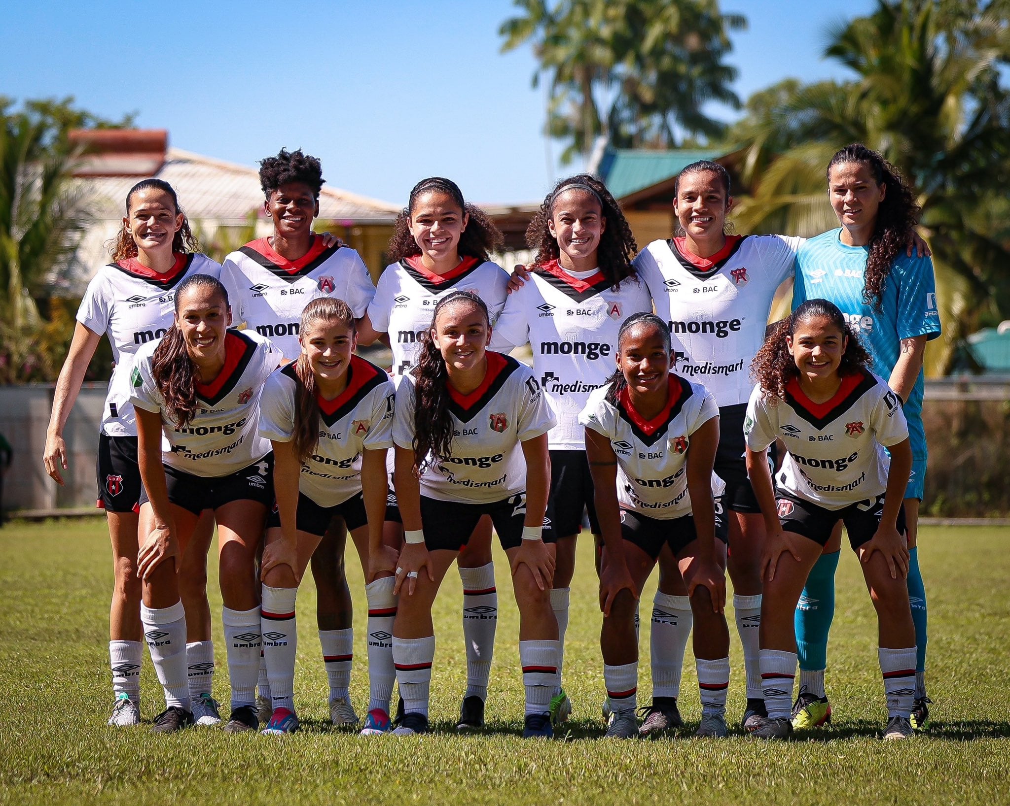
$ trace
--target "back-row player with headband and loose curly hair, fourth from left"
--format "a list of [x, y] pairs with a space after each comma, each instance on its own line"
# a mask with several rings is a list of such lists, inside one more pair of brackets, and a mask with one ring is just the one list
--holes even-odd
[[631, 229], [603, 183], [589, 175], [554, 186], [530, 221], [526, 240], [537, 250], [536, 257], [526, 282], [508, 298], [495, 323], [492, 347], [508, 350], [529, 342], [533, 371], [558, 418], [547, 435], [547, 517], [558, 538], [550, 603], [562, 648], [550, 701], [557, 725], [572, 712], [562, 687], [562, 665], [576, 538], [585, 511], [600, 540], [579, 413], [590, 392], [610, 378], [621, 323], [632, 314], [651, 311], [652, 303], [631, 267], [636, 248]]

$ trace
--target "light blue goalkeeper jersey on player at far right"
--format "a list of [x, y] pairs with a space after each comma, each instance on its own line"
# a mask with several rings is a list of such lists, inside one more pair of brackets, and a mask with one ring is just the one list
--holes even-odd
[[[886, 380], [898, 363], [901, 340], [913, 336], [935, 339], [940, 335], [936, 310], [933, 262], [928, 257], [895, 259], [884, 285], [882, 310], [863, 301], [863, 271], [870, 250], [846, 246], [841, 229], [810, 238], [796, 255], [793, 310], [807, 300], [829, 300], [847, 317], [874, 358], [874, 372]], [[922, 371], [905, 404], [906, 415], [922, 410]]]

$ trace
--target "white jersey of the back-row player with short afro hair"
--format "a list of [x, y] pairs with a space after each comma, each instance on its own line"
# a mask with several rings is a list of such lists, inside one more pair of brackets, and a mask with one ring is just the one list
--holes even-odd
[[358, 252], [326, 247], [318, 235], [297, 260], [275, 252], [268, 238], [250, 241], [224, 258], [221, 282], [228, 290], [232, 322], [244, 322], [266, 336], [289, 361], [301, 353], [300, 320], [312, 300], [343, 300], [361, 319], [376, 293]]

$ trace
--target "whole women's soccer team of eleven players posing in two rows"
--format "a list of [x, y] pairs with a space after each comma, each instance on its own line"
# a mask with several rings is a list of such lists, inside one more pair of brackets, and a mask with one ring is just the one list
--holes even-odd
[[[728, 172], [695, 162], [677, 178], [677, 235], [638, 252], [603, 183], [578, 175], [543, 200], [527, 231], [535, 257], [511, 276], [491, 259], [494, 223], [430, 178], [396, 220], [377, 286], [355, 250], [314, 232], [322, 168], [300, 150], [262, 161], [273, 234], [223, 265], [199, 253], [171, 186], [135, 185], [112, 262], [82, 301], [44, 455], [63, 483], [62, 432], [106, 335], [109, 724], [140, 722], [146, 643], [165, 694], [156, 731], [297, 731], [296, 598], [311, 569], [333, 724], [427, 732], [431, 608], [456, 561], [467, 658], [457, 727], [482, 728], [497, 534], [519, 611], [522, 734], [549, 737], [572, 713], [562, 670], [588, 522], [608, 736], [683, 725], [692, 634], [696, 735], [728, 734], [727, 571], [741, 727], [786, 738], [828, 722], [842, 526], [878, 615], [884, 736], [928, 728], [915, 539], [922, 354], [940, 331], [932, 264], [914, 199], [879, 154], [846, 146], [826, 178], [837, 229], [738, 236], [727, 234]], [[792, 314], [769, 327], [789, 279]], [[356, 354], [377, 339], [388, 370]], [[527, 343], [531, 366], [509, 354]], [[215, 525], [226, 719], [206, 591]], [[348, 534], [368, 604], [363, 721], [348, 692]], [[651, 701], [639, 708], [638, 598], [655, 566]]]

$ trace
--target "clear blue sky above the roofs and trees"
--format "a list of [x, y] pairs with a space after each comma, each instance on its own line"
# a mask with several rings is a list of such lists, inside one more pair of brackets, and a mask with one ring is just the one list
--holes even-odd
[[[844, 78], [820, 57], [825, 30], [875, 5], [723, 0], [749, 23], [733, 34], [734, 89]], [[302, 147], [330, 185], [396, 204], [432, 175], [475, 202], [534, 201], [579, 165], [545, 147], [529, 47], [499, 52], [512, 13], [511, 0], [35, 0], [4, 14], [0, 95], [135, 111], [175, 146], [246, 164]]]

